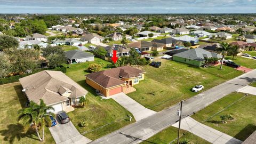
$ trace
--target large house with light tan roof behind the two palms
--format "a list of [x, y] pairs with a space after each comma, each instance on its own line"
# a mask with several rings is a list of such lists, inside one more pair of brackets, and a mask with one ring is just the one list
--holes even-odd
[[88, 93], [82, 86], [61, 71], [44, 70], [19, 79], [29, 101], [39, 103], [43, 99], [47, 106], [58, 111], [72, 111], [79, 98]]

